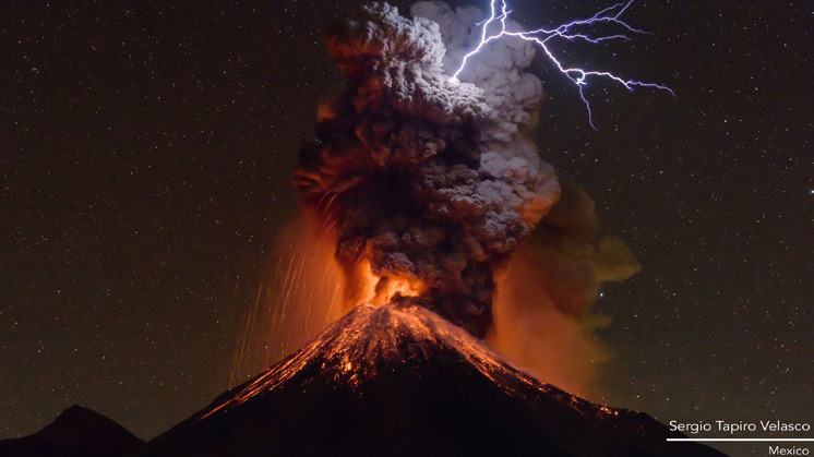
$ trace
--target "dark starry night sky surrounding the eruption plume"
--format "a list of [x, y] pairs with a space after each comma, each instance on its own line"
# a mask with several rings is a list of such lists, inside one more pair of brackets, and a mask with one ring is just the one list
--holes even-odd
[[[0, 2], [0, 438], [72, 404], [151, 438], [230, 387], [297, 149], [342, 86], [323, 32], [361, 2], [60, 3]], [[611, 3], [511, 2], [529, 28]], [[653, 35], [563, 56], [678, 98], [596, 84], [595, 132], [534, 67], [541, 155], [643, 265], [595, 308], [606, 401], [814, 422], [814, 8], [625, 17]]]

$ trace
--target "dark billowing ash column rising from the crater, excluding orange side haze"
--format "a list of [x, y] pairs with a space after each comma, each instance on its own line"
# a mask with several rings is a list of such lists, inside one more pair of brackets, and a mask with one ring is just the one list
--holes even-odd
[[519, 39], [490, 45], [463, 83], [450, 81], [443, 62], [468, 45], [460, 31], [479, 10], [412, 11], [445, 29], [370, 3], [330, 34], [348, 85], [320, 108], [320, 144], [302, 149], [295, 184], [335, 227], [351, 296], [369, 265], [376, 292], [417, 285], [417, 302], [482, 337], [494, 268], [559, 196], [525, 135], [541, 84], [520, 71], [534, 49]]

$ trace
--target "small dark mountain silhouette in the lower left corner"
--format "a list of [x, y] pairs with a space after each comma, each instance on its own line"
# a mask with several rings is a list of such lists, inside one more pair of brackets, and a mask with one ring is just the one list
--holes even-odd
[[143, 445], [144, 442], [118, 423], [74, 405], [33, 435], [0, 441], [0, 456], [112, 457]]

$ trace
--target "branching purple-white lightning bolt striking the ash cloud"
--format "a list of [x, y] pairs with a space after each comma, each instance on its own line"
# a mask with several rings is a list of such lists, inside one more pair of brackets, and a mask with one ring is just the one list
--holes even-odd
[[[584, 70], [579, 68], [567, 68], [563, 65], [563, 63], [560, 62], [560, 60], [558, 60], [556, 57], [554, 57], [553, 52], [551, 52], [551, 50], [547, 46], [552, 38], [564, 38], [570, 41], [583, 40], [583, 41], [587, 41], [591, 44], [599, 44], [599, 43], [607, 41], [610, 39], [625, 39], [625, 40], [631, 39], [624, 33], [617, 34], [617, 35], [600, 35], [597, 37], [591, 37], [584, 33], [577, 33], [574, 31], [574, 28], [578, 26], [591, 26], [598, 23], [614, 24], [614, 25], [622, 27], [626, 33], [631, 33], [631, 34], [647, 34], [647, 32], [638, 29], [638, 28], [634, 28], [630, 24], [619, 19], [622, 15], [622, 13], [624, 13], [627, 10], [631, 3], [633, 3], [633, 0], [626, 3], [617, 3], [610, 8], [606, 8], [604, 10], [599, 11], [598, 13], [594, 14], [592, 16], [588, 19], [572, 21], [567, 24], [562, 24], [551, 29], [538, 28], [536, 31], [530, 31], [530, 32], [508, 32], [506, 29], [506, 20], [508, 19], [508, 14], [511, 13], [511, 11], [508, 11], [508, 5], [506, 4], [505, 0], [500, 0], [501, 9], [499, 12], [498, 9], [495, 8], [496, 3], [498, 3], [498, 0], [492, 0], [492, 3], [491, 3], [492, 14], [489, 16], [488, 20], [482, 21], [477, 24], [477, 25], [481, 25], [481, 24], [483, 25], [483, 29], [481, 31], [480, 43], [472, 51], [464, 56], [464, 60], [460, 62], [460, 67], [455, 72], [455, 74], [453, 74], [452, 81], [458, 81], [458, 75], [460, 74], [462, 71], [464, 71], [464, 68], [466, 67], [466, 63], [469, 60], [469, 58], [478, 53], [487, 43], [504, 37], [504, 36], [515, 36], [518, 38], [523, 38], [527, 41], [534, 41], [537, 45], [539, 45], [542, 48], [542, 51], [546, 53], [546, 56], [554, 63], [554, 65], [560, 71], [560, 73], [564, 74], [568, 80], [571, 80], [576, 85], [577, 89], [579, 91], [579, 98], [583, 99], [583, 103], [585, 104], [585, 107], [588, 110], [588, 123], [590, 124], [591, 128], [594, 128], [594, 130], [597, 130], [596, 125], [594, 125], [594, 115], [590, 110], [590, 104], [588, 103], [588, 99], [585, 98], [585, 92], [584, 92], [585, 87], [588, 85], [587, 80], [590, 76], [611, 80], [618, 84], [623, 85], [629, 91], [633, 91], [633, 88], [636, 86], [653, 87], [653, 88], [658, 88], [661, 91], [667, 91], [670, 94], [672, 94], [673, 97], [675, 96], [675, 93], [670, 87], [663, 86], [661, 84], [643, 83], [641, 81], [635, 81], [635, 80], [624, 80], [607, 71], [594, 71], [594, 70]], [[498, 28], [496, 24], [500, 24], [499, 26], [500, 31], [495, 33], [494, 29]], [[492, 32], [489, 32], [490, 28], [492, 29]]]

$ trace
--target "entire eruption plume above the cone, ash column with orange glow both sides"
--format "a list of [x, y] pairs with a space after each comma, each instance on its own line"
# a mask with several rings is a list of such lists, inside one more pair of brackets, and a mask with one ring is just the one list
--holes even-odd
[[[327, 35], [347, 85], [300, 152], [308, 221], [284, 239], [278, 292], [258, 300], [240, 374], [358, 304], [415, 297], [535, 376], [589, 395], [606, 359], [588, 335], [602, 323], [591, 303], [602, 281], [638, 270], [635, 256], [599, 238], [590, 197], [561, 184], [530, 140], [543, 99], [526, 71], [535, 44], [505, 36], [469, 55], [489, 26], [480, 10], [410, 12], [370, 3]], [[247, 358], [262, 360], [246, 370]]]

